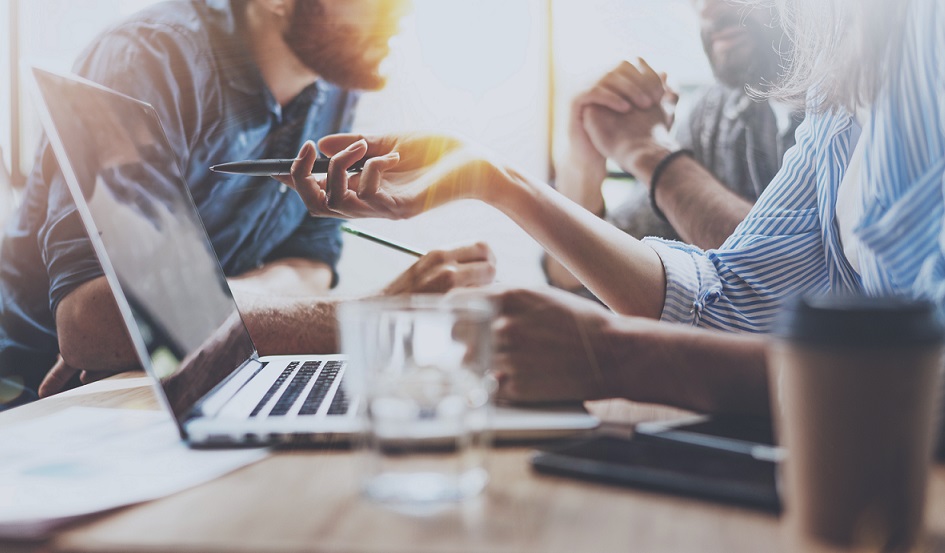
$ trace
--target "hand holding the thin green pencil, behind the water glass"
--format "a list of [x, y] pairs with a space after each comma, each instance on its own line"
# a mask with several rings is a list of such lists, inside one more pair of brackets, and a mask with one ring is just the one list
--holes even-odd
[[452, 250], [434, 250], [394, 279], [383, 291], [399, 294], [444, 293], [454, 288], [482, 286], [495, 279], [495, 255], [485, 243]]

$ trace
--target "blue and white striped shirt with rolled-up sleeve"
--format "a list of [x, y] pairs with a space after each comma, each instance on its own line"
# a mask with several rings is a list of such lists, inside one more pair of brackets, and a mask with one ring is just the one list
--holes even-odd
[[945, 6], [914, 0], [905, 25], [898, 63], [859, 138], [860, 272], [844, 256], [836, 220], [859, 128], [842, 110], [808, 113], [781, 171], [719, 249], [646, 239], [666, 270], [663, 320], [766, 332], [786, 298], [827, 291], [945, 305]]

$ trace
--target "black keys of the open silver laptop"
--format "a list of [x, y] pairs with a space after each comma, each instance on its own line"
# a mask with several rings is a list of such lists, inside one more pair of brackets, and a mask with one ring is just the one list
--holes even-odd
[[[269, 412], [269, 416], [284, 416], [291, 411], [292, 406], [299, 400], [302, 391], [305, 390], [305, 387], [316, 373], [318, 374], [318, 378], [315, 379], [315, 384], [302, 401], [302, 406], [298, 414], [314, 415], [317, 413], [318, 408], [321, 407], [325, 398], [328, 396], [328, 392], [331, 390], [335, 379], [338, 378], [338, 374], [341, 372], [343, 366], [340, 361], [326, 361], [325, 366], [322, 368], [321, 372], [319, 372], [318, 369], [321, 365], [321, 361], [307, 361], [303, 363], [301, 367], [299, 367], [298, 361], [289, 363], [279, 377], [272, 383], [256, 407], [253, 408], [249, 416], [255, 417], [263, 411], [266, 405], [272, 400], [273, 396], [276, 395], [276, 392], [278, 392], [285, 384], [286, 380], [292, 376], [296, 368], [298, 368], [298, 372], [295, 373], [295, 376], [292, 376], [291, 382], [286, 386], [282, 395], [279, 396], [278, 401], [276, 401], [276, 404]], [[328, 406], [328, 414], [343, 415], [347, 411], [348, 399], [344, 390], [339, 387], [332, 398], [331, 404]]]

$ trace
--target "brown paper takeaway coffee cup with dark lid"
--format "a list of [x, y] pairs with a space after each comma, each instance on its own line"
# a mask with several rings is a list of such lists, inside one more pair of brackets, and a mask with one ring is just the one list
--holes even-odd
[[934, 305], [801, 299], [769, 350], [791, 551], [909, 551], [922, 535], [942, 368]]

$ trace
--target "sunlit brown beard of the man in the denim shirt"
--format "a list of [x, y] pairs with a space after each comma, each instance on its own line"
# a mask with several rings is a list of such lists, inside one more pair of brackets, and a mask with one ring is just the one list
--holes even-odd
[[395, 26], [366, 31], [363, 25], [326, 20], [321, 0], [297, 1], [286, 44], [309, 69], [342, 88], [384, 88], [380, 65]]

